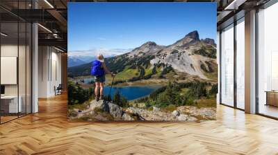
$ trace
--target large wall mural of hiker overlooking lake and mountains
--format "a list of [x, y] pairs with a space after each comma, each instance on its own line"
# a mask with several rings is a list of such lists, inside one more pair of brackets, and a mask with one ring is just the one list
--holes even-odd
[[215, 120], [215, 3], [68, 6], [70, 121]]

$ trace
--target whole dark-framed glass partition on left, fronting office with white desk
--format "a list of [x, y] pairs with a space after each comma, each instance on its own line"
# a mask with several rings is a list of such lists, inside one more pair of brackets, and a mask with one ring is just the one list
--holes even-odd
[[[3, 1], [13, 9], [30, 1]], [[31, 24], [0, 8], [0, 123], [31, 113]]]

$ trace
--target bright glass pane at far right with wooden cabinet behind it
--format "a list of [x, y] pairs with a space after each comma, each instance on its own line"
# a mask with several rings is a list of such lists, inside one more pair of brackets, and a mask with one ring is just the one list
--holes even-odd
[[278, 118], [278, 3], [258, 12], [258, 112]]

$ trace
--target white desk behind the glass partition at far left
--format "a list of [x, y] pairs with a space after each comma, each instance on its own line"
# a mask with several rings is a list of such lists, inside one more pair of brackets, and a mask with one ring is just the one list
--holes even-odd
[[17, 106], [17, 95], [1, 96], [1, 110], [4, 113], [18, 113], [22, 112], [22, 96], [19, 95], [19, 102]]

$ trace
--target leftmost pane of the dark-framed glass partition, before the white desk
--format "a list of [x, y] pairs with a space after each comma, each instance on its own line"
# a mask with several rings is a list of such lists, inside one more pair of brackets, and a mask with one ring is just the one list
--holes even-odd
[[18, 100], [18, 23], [1, 23], [1, 122], [18, 117], [22, 104]]

